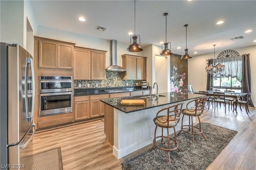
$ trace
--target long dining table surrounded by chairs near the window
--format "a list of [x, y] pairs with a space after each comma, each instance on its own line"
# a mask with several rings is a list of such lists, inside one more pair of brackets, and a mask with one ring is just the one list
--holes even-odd
[[[209, 96], [214, 97], [214, 92], [219, 92], [219, 91], [212, 91], [212, 90], [206, 90], [209, 93]], [[201, 94], [199, 90], [193, 91], [194, 94]], [[240, 97], [247, 95], [248, 93], [236, 93], [236, 92], [224, 92], [225, 97], [230, 97], [234, 98], [234, 107], [233, 107], [233, 112], [236, 111], [237, 114], [237, 105], [238, 105], [238, 100]], [[222, 94], [215, 94], [218, 97], [224, 97]]]

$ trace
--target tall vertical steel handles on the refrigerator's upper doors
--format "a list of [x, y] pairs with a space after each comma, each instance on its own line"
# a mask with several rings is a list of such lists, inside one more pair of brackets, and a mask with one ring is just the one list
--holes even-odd
[[[28, 109], [28, 64], [31, 65], [31, 73], [32, 73], [32, 109], [31, 109], [31, 115], [29, 115], [29, 109]], [[26, 108], [26, 117], [27, 122], [33, 121], [34, 116], [34, 105], [35, 105], [35, 79], [34, 79], [34, 66], [33, 66], [33, 60], [32, 58], [26, 59], [26, 68], [25, 68], [25, 108]]]

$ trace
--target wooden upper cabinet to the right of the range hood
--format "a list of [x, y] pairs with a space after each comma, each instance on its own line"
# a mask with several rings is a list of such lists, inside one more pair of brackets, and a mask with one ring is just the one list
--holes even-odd
[[146, 57], [136, 55], [122, 55], [123, 67], [128, 71], [124, 71], [123, 80], [146, 80]]

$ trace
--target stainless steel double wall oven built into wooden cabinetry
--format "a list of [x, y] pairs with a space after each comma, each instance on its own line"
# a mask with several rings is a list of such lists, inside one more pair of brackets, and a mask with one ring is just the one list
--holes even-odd
[[40, 76], [39, 117], [72, 112], [72, 76]]

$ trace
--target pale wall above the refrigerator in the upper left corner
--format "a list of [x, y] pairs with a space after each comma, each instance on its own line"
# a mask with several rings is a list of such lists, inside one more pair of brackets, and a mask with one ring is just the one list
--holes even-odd
[[[30, 1], [0, 1], [0, 41], [18, 43], [33, 55], [33, 32], [37, 30], [37, 23]], [[30, 32], [27, 42], [27, 21], [30, 23]], [[32, 33], [31, 33], [32, 30]], [[32, 36], [31, 36], [32, 34]], [[27, 47], [27, 45], [29, 47]]]

